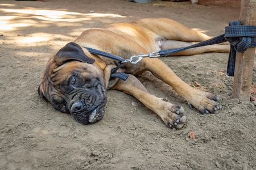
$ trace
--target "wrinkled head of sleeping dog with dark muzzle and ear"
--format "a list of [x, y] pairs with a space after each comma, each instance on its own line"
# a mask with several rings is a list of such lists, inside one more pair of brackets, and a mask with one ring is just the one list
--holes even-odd
[[103, 73], [75, 42], [69, 42], [47, 64], [38, 94], [53, 107], [71, 113], [83, 125], [104, 116], [106, 89]]

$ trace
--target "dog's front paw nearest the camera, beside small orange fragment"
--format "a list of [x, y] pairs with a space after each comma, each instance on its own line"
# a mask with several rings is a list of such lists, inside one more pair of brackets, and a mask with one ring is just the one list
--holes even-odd
[[164, 124], [170, 128], [181, 129], [186, 121], [184, 109], [180, 105], [174, 105], [168, 102], [166, 98], [162, 99], [157, 113], [162, 118]]

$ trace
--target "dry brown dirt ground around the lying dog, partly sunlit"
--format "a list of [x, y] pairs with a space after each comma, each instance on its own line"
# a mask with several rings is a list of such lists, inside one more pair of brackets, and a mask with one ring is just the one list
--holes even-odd
[[[105, 117], [87, 126], [38, 96], [48, 57], [87, 28], [163, 17], [217, 36], [239, 19], [238, 0], [199, 2], [1, 0], [0, 169], [256, 169], [255, 107], [228, 99], [233, 78], [221, 72], [226, 53], [162, 58], [186, 83], [220, 96], [218, 114], [189, 109], [150, 73], [141, 78], [152, 94], [184, 107], [181, 130], [119, 91], [108, 91]], [[256, 68], [253, 74], [255, 84]], [[189, 138], [192, 131], [195, 139]]]

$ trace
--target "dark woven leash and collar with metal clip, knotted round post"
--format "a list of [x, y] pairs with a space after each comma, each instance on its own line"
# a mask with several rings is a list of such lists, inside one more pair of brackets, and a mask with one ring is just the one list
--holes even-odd
[[[229, 26], [225, 27], [225, 34], [222, 34], [212, 39], [193, 44], [191, 46], [186, 46], [182, 48], [160, 50], [158, 52], [152, 52], [148, 54], [139, 54], [138, 56], [131, 56], [130, 59], [123, 59], [122, 57], [115, 56], [114, 54], [102, 52], [101, 50], [96, 50], [92, 48], [86, 48], [92, 54], [97, 54], [100, 56], [115, 59], [118, 62], [118, 66], [112, 69], [111, 78], [119, 78], [126, 80], [129, 74], [126, 73], [115, 73], [125, 62], [138, 63], [144, 57], [158, 58], [166, 57], [171, 54], [181, 52], [183, 50], [196, 48], [200, 46], [220, 44], [222, 42], [230, 42], [230, 53], [227, 67], [227, 74], [229, 76], [234, 76], [234, 67], [236, 63], [236, 52], [245, 52], [250, 46], [256, 46], [256, 25], [242, 25], [240, 21], [229, 22]], [[135, 60], [136, 59], [136, 60]]]

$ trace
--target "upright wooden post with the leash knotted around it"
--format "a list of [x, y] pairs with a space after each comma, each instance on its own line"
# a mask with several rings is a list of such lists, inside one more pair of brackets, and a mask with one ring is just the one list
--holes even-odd
[[[243, 25], [256, 25], [256, 0], [241, 0], [240, 21]], [[237, 53], [232, 97], [241, 102], [250, 101], [255, 48]]]

